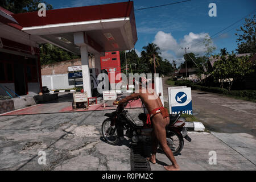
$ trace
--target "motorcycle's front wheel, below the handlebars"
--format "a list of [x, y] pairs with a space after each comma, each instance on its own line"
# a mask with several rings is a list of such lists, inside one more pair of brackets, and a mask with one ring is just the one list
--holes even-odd
[[110, 124], [111, 124], [111, 119], [106, 118], [101, 125], [101, 132], [106, 142], [114, 146], [118, 144], [119, 139], [118, 139], [116, 127], [115, 126], [112, 127]]

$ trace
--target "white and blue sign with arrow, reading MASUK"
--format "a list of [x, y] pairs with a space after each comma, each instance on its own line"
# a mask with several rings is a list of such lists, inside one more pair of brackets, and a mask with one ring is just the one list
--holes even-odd
[[168, 87], [170, 114], [177, 114], [181, 110], [185, 114], [192, 114], [191, 88]]

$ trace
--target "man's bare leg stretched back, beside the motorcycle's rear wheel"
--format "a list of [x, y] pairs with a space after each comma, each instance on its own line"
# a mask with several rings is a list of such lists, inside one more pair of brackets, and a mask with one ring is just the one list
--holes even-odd
[[162, 114], [156, 114], [155, 117], [152, 119], [154, 123], [154, 131], [156, 138], [158, 139], [160, 145], [163, 148], [164, 153], [166, 154], [167, 158], [171, 160], [172, 165], [164, 166], [167, 170], [179, 170], [179, 165], [177, 164], [174, 154], [172, 154], [171, 149], [167, 145], [166, 140], [166, 125], [168, 123], [168, 118], [163, 118]]

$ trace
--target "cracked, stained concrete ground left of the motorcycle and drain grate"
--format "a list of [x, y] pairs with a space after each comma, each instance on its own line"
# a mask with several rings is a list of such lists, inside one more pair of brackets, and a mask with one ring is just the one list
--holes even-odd
[[[0, 117], [0, 170], [130, 170], [129, 143], [101, 138], [106, 112]], [[46, 165], [38, 164], [39, 151]]]

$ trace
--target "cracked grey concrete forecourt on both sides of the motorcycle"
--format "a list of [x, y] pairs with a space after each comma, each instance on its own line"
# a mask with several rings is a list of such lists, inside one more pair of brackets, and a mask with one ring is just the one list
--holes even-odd
[[[109, 111], [12, 115], [0, 117], [0, 170], [130, 170], [130, 145], [111, 146], [101, 138], [101, 124]], [[142, 109], [130, 109], [131, 115]], [[248, 134], [189, 133], [181, 155], [182, 170], [255, 170], [255, 137]], [[217, 165], [209, 165], [209, 151]], [[46, 165], [39, 165], [39, 151]], [[170, 164], [157, 154], [152, 170]]]

